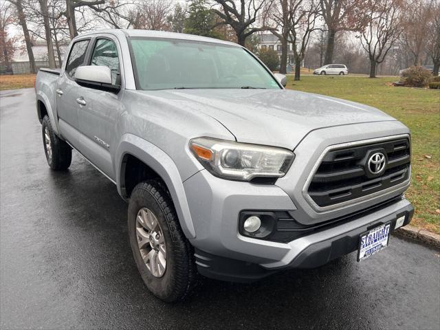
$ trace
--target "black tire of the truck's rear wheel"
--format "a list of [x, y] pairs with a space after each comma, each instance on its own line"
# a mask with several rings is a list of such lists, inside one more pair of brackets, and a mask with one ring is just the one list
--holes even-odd
[[[44, 116], [41, 124], [41, 133], [43, 135], [43, 146], [47, 164], [49, 164], [52, 170], [67, 170], [72, 163], [72, 148], [70, 148], [67, 142], [61, 140], [58, 135], [54, 133], [54, 129], [52, 129], [52, 124], [47, 115]], [[47, 136], [49, 137], [49, 142], [47, 142], [45, 133], [47, 133]], [[50, 144], [50, 150], [52, 153], [47, 151], [47, 143]]]

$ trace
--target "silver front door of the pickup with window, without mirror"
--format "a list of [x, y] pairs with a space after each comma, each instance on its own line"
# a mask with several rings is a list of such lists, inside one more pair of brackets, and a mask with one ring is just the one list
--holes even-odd
[[87, 65], [102, 65], [111, 69], [112, 85], [120, 85], [120, 91], [104, 91], [80, 87], [80, 98], [87, 103], [78, 112], [81, 153], [104, 174], [115, 180], [113, 160], [121, 133], [118, 118], [124, 111], [122, 61], [118, 39], [100, 36], [92, 41]]

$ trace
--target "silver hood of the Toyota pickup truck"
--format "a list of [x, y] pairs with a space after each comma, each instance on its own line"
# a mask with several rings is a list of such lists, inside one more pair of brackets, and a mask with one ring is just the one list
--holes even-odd
[[177, 89], [140, 91], [182, 110], [218, 120], [238, 142], [294, 149], [310, 131], [395, 120], [364, 104], [286, 89]]

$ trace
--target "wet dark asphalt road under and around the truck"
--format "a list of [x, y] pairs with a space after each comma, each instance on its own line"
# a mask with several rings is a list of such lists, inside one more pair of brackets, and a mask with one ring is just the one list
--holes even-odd
[[69, 171], [48, 168], [33, 89], [0, 105], [1, 329], [439, 329], [439, 252], [395, 236], [362, 263], [203, 279], [162, 303], [137, 274], [115, 186], [76, 152]]

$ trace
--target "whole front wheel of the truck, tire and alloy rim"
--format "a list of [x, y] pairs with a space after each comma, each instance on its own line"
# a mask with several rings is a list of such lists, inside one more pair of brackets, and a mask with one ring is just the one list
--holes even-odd
[[183, 300], [195, 284], [194, 254], [162, 184], [137, 184], [128, 216], [131, 250], [146, 287], [167, 303]]

